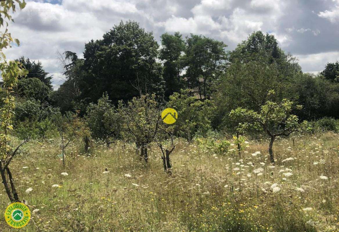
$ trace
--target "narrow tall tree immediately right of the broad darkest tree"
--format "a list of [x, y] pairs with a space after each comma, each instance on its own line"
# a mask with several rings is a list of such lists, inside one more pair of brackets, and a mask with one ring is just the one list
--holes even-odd
[[163, 79], [165, 81], [165, 97], [167, 98], [183, 88], [181, 72], [184, 69], [185, 41], [179, 32], [174, 35], [164, 33], [161, 35], [161, 45], [159, 58], [164, 62]]

